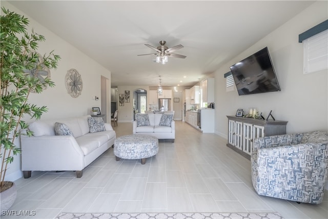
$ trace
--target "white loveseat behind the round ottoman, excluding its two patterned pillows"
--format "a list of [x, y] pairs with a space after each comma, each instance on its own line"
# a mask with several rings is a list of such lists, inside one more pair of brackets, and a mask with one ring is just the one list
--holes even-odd
[[[157, 137], [158, 139], [172, 139], [175, 140], [175, 122], [172, 120], [169, 126], [159, 125], [161, 116], [166, 113], [137, 113], [136, 120], [133, 121], [133, 134], [146, 134]], [[138, 124], [138, 115], [149, 117], [149, 125]]]

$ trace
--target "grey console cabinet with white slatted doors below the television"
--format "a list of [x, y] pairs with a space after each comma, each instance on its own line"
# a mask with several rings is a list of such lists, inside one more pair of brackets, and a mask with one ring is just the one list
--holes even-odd
[[288, 121], [259, 120], [237, 116], [228, 117], [228, 144], [243, 156], [251, 159], [254, 139], [257, 137], [286, 134]]

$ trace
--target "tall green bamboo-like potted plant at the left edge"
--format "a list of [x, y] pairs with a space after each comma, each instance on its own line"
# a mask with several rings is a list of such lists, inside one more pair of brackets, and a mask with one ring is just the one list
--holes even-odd
[[[13, 182], [5, 181], [9, 163], [20, 153], [15, 141], [20, 130], [27, 129], [28, 124], [22, 119], [29, 115], [36, 120], [47, 111], [45, 106], [37, 107], [28, 101], [31, 92], [40, 93], [45, 88], [53, 87], [49, 78], [49, 69], [56, 68], [60, 57], [53, 51], [43, 56], [36, 52], [38, 43], [45, 41], [43, 35], [27, 32], [29, 21], [26, 17], [10, 12], [2, 7], [1, 15], [1, 98], [0, 98], [0, 132], [1, 132], [1, 210], [11, 207], [16, 198]], [[24, 133], [31, 136], [33, 133]], [[9, 190], [14, 189], [14, 194]], [[13, 200], [13, 201], [12, 201]], [[12, 203], [10, 204], [9, 202]]]

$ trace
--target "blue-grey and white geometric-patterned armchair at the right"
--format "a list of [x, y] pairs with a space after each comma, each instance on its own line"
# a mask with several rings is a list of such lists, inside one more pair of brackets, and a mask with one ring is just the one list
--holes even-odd
[[256, 138], [251, 163], [258, 194], [320, 204], [328, 170], [328, 132]]

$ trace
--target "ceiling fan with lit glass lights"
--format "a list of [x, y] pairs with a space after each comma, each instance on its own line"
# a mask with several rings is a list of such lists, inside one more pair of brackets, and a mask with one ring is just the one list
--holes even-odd
[[149, 48], [155, 50], [157, 53], [149, 53], [149, 54], [141, 54], [141, 55], [156, 55], [156, 63], [161, 63], [161, 64], [167, 63], [169, 56], [175, 57], [175, 58], [186, 58], [187, 57], [186, 55], [172, 53], [178, 49], [182, 49], [183, 46], [181, 44], [171, 47], [171, 48], [165, 46], [166, 41], [159, 41], [159, 44], [160, 44], [160, 46], [158, 46], [157, 48], [155, 48], [149, 44], [145, 44], [145, 46], [148, 46]]

